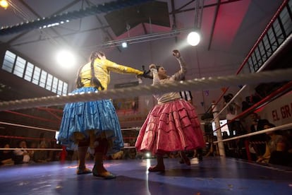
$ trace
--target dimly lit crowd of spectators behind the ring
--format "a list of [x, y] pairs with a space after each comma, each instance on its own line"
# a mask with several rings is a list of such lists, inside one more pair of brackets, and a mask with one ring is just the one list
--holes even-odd
[[[274, 127], [267, 119], [260, 119], [257, 113], [249, 115], [249, 119], [252, 124], [248, 126], [246, 132], [252, 133], [255, 131], [261, 131], [263, 129], [269, 129]], [[245, 124], [243, 124], [245, 126]], [[211, 129], [211, 130], [210, 130]], [[241, 132], [242, 130], [240, 129]], [[232, 136], [238, 136], [235, 134], [227, 134], [223, 132], [222, 138], [231, 138]], [[127, 131], [127, 134], [123, 135], [129, 142], [129, 146], [133, 146], [135, 143], [135, 135], [137, 131]], [[207, 143], [205, 148], [202, 148], [202, 153], [205, 157], [219, 155], [217, 148], [217, 136], [214, 136], [212, 131], [212, 125], [205, 124], [205, 141]], [[246, 145], [248, 143], [248, 145]], [[18, 165], [23, 163], [39, 163], [39, 162], [51, 162], [61, 160], [62, 150], [47, 150], [47, 148], [62, 148], [61, 145], [56, 143], [56, 140], [47, 141], [42, 139], [40, 141], [31, 140], [14, 140], [3, 139], [1, 140], [0, 148], [19, 148], [16, 150], [0, 150], [0, 165]], [[29, 148], [44, 148], [44, 150], [28, 150]], [[275, 164], [292, 166], [292, 130], [286, 131], [272, 131], [266, 134], [259, 134], [256, 136], [250, 136], [247, 138], [239, 138], [233, 141], [224, 142], [224, 149], [226, 157], [241, 158], [244, 160], [250, 159], [253, 162], [264, 164]], [[195, 157], [195, 151], [185, 151], [189, 158]], [[93, 160], [94, 156], [90, 150], [87, 151], [88, 160]], [[154, 158], [153, 156], [147, 156], [145, 153], [137, 153], [135, 148], [123, 148], [118, 153], [104, 156], [107, 160], [120, 160], [120, 159], [142, 159], [142, 158]], [[178, 158], [176, 153], [170, 153], [165, 158]], [[65, 154], [65, 160], [78, 160], [77, 151], [74, 148], [67, 148]]]

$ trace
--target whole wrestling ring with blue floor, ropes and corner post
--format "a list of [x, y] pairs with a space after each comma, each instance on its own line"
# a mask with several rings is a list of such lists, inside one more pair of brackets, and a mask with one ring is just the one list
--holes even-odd
[[[292, 69], [262, 71], [266, 64], [273, 60], [274, 56], [267, 59], [257, 72], [240, 73], [250, 55], [255, 51], [256, 45], [262, 40], [264, 34], [286, 4], [288, 4], [288, 1], [285, 1], [279, 8], [279, 11], [277, 11], [267, 29], [264, 30], [260, 39], [256, 42], [255, 47], [251, 49], [235, 76], [195, 78], [168, 85], [139, 85], [130, 88], [100, 91], [99, 93], [68, 94], [66, 96], [0, 102], [0, 112], [64, 105], [67, 102], [103, 100], [105, 98], [130, 98], [170, 91], [208, 90], [241, 85], [243, 87], [234, 96], [236, 98], [250, 84], [286, 82], [281, 88], [275, 90], [238, 116], [238, 118], [245, 117], [253, 110], [257, 110], [269, 104], [272, 100], [281, 97], [281, 95], [291, 92]], [[286, 45], [291, 45], [291, 35], [287, 37], [281, 47], [276, 49], [275, 55], [281, 53]], [[219, 103], [228, 89], [224, 90], [224, 93], [222, 93], [217, 102], [214, 102], [214, 105]], [[224, 112], [226, 107], [220, 111], [213, 110], [214, 107], [212, 107], [211, 112], [214, 112], [214, 121], [219, 119], [219, 115]], [[22, 124], [8, 124], [6, 122], [0, 122], [0, 124], [23, 126]], [[34, 128], [39, 131], [56, 131], [54, 129], [37, 129], [33, 126], [23, 127]], [[221, 133], [220, 129], [222, 127], [219, 126], [215, 131]], [[147, 171], [148, 167], [156, 162], [153, 158], [105, 160], [104, 167], [114, 172], [117, 176], [114, 180], [105, 180], [92, 175], [76, 175], [77, 162], [75, 160], [63, 159], [55, 162], [4, 166], [0, 167], [0, 194], [292, 194], [292, 167], [262, 165], [250, 162], [250, 160], [226, 158], [223, 152], [224, 148], [222, 148], [224, 147], [223, 143], [227, 141], [270, 131], [284, 131], [291, 129], [291, 127], [292, 124], [290, 122], [275, 128], [227, 139], [223, 139], [221, 134], [218, 134], [218, 141], [214, 143], [219, 146], [219, 155], [205, 157], [201, 162], [197, 162], [195, 158], [191, 159], [190, 166], [178, 163], [178, 159], [166, 158], [164, 160], [166, 171], [160, 173]], [[131, 147], [129, 146], [129, 148]], [[4, 148], [0, 149], [4, 150]], [[8, 149], [15, 150], [16, 148]], [[28, 148], [28, 150], [37, 149]], [[46, 150], [63, 151], [64, 148], [46, 148]], [[87, 161], [87, 167], [92, 168], [93, 165], [93, 160]]]

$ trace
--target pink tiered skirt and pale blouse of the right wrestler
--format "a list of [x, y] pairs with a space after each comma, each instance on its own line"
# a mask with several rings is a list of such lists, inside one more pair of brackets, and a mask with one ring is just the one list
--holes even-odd
[[[152, 69], [153, 85], [181, 81], [185, 75], [185, 63], [178, 59], [181, 70], [169, 78], [159, 80], [157, 70]], [[155, 105], [140, 129], [135, 147], [138, 151], [164, 154], [178, 150], [205, 147], [195, 108], [181, 99], [179, 93], [154, 95]]]

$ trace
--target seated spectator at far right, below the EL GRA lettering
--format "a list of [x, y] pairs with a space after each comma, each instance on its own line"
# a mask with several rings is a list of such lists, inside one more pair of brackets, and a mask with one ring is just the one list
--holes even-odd
[[[273, 127], [275, 127], [274, 124], [264, 124], [264, 129], [270, 129]], [[257, 162], [268, 163], [274, 151], [280, 151], [283, 153], [286, 148], [285, 138], [279, 134], [276, 134], [276, 131], [270, 131], [266, 134], [270, 139], [266, 142], [266, 150], [264, 155], [261, 155], [259, 158], [257, 158]]]

